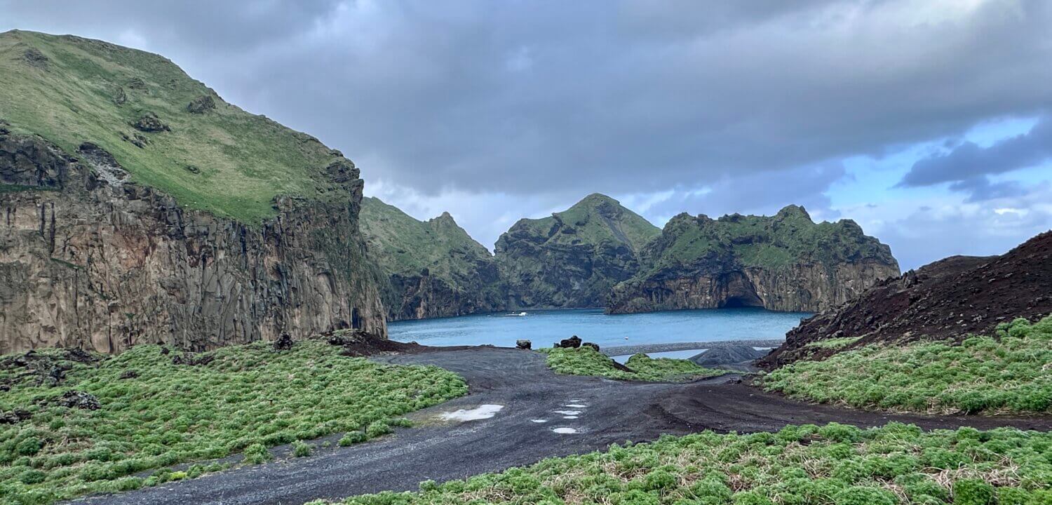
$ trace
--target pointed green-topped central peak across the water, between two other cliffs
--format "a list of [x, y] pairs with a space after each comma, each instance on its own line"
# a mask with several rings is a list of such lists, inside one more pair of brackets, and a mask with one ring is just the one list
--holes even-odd
[[601, 307], [639, 268], [661, 230], [616, 200], [589, 195], [543, 219], [522, 219], [497, 241], [508, 308]]

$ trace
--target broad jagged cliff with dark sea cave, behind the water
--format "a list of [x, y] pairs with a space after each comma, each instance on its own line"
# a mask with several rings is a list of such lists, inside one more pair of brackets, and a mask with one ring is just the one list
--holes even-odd
[[681, 214], [619, 284], [610, 314], [756, 306], [818, 311], [898, 275], [891, 249], [853, 221], [814, 223], [790, 205], [772, 217]]

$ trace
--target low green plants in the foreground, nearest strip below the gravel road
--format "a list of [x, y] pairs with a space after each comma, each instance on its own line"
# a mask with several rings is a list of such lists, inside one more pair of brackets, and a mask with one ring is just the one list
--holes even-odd
[[[1039, 505], [1052, 503], [1052, 433], [789, 426], [664, 437], [348, 505]], [[326, 502], [312, 502], [321, 504]]]

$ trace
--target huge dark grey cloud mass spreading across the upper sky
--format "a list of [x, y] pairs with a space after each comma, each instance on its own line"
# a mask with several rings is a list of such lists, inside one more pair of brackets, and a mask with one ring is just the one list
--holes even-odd
[[628, 193], [1050, 108], [1052, 6], [970, 5], [34, 1], [0, 25], [140, 40], [424, 195]]

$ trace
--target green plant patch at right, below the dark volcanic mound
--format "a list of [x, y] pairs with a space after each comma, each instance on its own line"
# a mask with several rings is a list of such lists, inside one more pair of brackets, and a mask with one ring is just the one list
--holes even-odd
[[767, 390], [859, 408], [1052, 413], [1052, 316], [1005, 323], [997, 338], [956, 344], [873, 344], [798, 361], [763, 378]]

